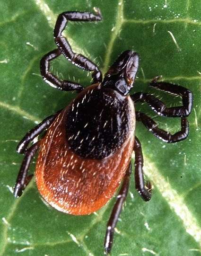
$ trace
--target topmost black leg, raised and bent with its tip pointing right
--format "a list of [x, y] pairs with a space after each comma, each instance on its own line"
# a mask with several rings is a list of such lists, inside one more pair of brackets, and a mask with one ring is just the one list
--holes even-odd
[[81, 69], [87, 71], [93, 71], [92, 78], [93, 82], [102, 81], [102, 73], [98, 69], [95, 63], [90, 61], [87, 57], [82, 54], [74, 53], [71, 49], [69, 42], [66, 37], [62, 35], [68, 20], [70, 21], [99, 21], [102, 19], [99, 9], [95, 9], [95, 13], [90, 12], [78, 12], [78, 11], [66, 11], [62, 12], [57, 18], [56, 25], [54, 28], [54, 40], [60, 49], [61, 53], [73, 64]]

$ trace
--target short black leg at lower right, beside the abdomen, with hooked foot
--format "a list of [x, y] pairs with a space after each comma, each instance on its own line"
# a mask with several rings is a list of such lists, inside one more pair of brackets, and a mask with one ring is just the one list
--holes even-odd
[[140, 141], [135, 137], [134, 148], [135, 152], [135, 187], [144, 201], [151, 199], [151, 184], [148, 182], [147, 187], [144, 185], [144, 174], [143, 174], [143, 154]]

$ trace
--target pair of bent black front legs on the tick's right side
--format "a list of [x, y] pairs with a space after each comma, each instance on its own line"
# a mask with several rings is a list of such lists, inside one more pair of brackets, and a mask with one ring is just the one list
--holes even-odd
[[186, 117], [192, 111], [192, 92], [189, 89], [179, 85], [166, 82], [157, 82], [159, 78], [160, 77], [156, 77], [153, 79], [149, 85], [154, 88], [173, 93], [175, 95], [180, 95], [182, 97], [183, 106], [168, 108], [161, 100], [148, 93], [138, 92], [133, 94], [131, 98], [135, 103], [138, 101], [147, 102], [158, 115], [163, 115], [166, 117], [181, 117], [181, 131], [176, 132], [175, 134], [166, 132], [158, 128], [157, 123], [154, 122], [148, 115], [145, 115], [139, 111], [136, 111], [136, 120], [142, 122], [147, 127], [147, 129], [149, 129], [149, 131], [152, 132], [158, 139], [168, 143], [182, 141], [186, 139], [189, 134], [189, 124]]

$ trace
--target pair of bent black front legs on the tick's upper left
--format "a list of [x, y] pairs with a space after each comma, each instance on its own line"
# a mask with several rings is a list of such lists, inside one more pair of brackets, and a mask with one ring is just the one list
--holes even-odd
[[87, 71], [93, 71], [92, 78], [93, 83], [102, 81], [102, 73], [98, 69], [95, 63], [90, 61], [87, 57], [82, 54], [74, 53], [71, 49], [69, 42], [66, 37], [62, 35], [63, 30], [65, 29], [68, 20], [70, 21], [99, 21], [102, 19], [99, 9], [95, 9], [96, 14], [90, 12], [63, 12], [59, 15], [56, 21], [54, 28], [54, 40], [58, 46], [58, 49], [55, 49], [47, 54], [41, 59], [40, 69], [41, 75], [44, 78], [44, 81], [47, 82], [54, 88], [58, 88], [64, 91], [81, 91], [83, 87], [79, 83], [75, 83], [69, 80], [58, 79], [55, 75], [50, 72], [50, 62], [61, 55], [61, 53], [74, 65], [78, 66], [81, 69]]

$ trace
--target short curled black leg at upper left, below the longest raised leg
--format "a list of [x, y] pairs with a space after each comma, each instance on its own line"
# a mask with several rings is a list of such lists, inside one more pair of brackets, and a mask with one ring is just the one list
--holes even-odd
[[61, 55], [59, 49], [55, 49], [43, 56], [40, 62], [41, 75], [46, 83], [62, 91], [81, 91], [83, 87], [69, 80], [60, 80], [50, 72], [50, 62]]

